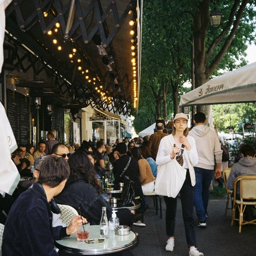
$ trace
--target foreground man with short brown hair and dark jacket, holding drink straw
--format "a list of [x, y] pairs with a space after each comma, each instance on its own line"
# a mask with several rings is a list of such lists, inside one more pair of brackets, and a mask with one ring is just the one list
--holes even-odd
[[68, 163], [48, 156], [40, 165], [38, 182], [12, 205], [3, 234], [2, 255], [58, 255], [54, 240], [69, 236], [86, 223], [81, 216], [68, 227], [52, 227], [50, 200], [65, 186], [70, 175]]

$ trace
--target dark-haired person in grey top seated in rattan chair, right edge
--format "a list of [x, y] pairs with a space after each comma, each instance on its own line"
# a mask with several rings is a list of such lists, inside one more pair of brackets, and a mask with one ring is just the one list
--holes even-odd
[[[256, 151], [250, 144], [244, 144], [241, 148], [242, 158], [235, 163], [232, 168], [230, 175], [227, 179], [227, 187], [230, 190], [234, 188], [234, 180], [239, 176], [245, 175], [256, 175]], [[240, 183], [237, 183], [237, 198], [240, 199]], [[249, 216], [252, 214], [252, 208], [247, 205], [245, 208], [245, 219], [249, 220]], [[252, 217], [254, 218], [254, 217]]]

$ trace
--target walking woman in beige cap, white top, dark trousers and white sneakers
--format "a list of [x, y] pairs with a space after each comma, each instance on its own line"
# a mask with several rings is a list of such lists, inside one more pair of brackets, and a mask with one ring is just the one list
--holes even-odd
[[[180, 189], [183, 222], [186, 233], [189, 256], [203, 256], [196, 248], [196, 224], [194, 220], [194, 186], [196, 184], [193, 165], [198, 164], [198, 154], [195, 139], [188, 136], [188, 118], [183, 113], [178, 113], [174, 118], [173, 134], [161, 139], [156, 163], [158, 166], [167, 162], [177, 162], [186, 169], [185, 181]], [[167, 172], [168, 170], [162, 170]], [[172, 186], [172, 184], [169, 184]], [[175, 217], [177, 208], [177, 197], [164, 196], [166, 204], [166, 234], [168, 236], [166, 251], [174, 250]]]

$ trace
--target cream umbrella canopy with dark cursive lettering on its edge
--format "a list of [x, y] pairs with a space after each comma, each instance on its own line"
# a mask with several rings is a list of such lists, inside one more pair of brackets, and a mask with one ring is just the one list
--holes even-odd
[[183, 94], [179, 106], [256, 102], [256, 62]]

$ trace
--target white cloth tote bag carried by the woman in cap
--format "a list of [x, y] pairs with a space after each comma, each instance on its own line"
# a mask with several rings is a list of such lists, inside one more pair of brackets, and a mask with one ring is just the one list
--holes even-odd
[[159, 165], [155, 183], [156, 194], [176, 198], [186, 179], [186, 172], [176, 159]]

